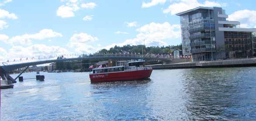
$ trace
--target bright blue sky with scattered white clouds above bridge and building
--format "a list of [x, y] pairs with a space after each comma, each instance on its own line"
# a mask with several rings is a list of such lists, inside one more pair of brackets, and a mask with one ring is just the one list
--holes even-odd
[[228, 20], [256, 28], [254, 0], [0, 0], [0, 62], [89, 54], [115, 45], [181, 43], [180, 17], [222, 7]]

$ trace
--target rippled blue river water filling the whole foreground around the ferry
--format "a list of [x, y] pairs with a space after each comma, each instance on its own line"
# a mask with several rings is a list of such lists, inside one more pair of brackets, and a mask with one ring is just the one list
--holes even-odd
[[256, 67], [153, 70], [149, 80], [98, 84], [90, 83], [87, 72], [41, 73], [44, 82], [24, 80], [1, 90], [0, 119], [256, 120], [255, 72]]

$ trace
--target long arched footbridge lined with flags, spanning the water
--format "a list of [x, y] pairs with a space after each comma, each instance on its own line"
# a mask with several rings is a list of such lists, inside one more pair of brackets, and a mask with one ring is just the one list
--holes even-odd
[[89, 55], [89, 56], [82, 56], [82, 57], [69, 58], [69, 59], [65, 59], [65, 58], [50, 59], [50, 60], [35, 61], [35, 62], [24, 62], [24, 63], [12, 64], [12, 65], [3, 65], [3, 66], [0, 66], [0, 76], [2, 78], [6, 78], [7, 80], [11, 80], [13, 83], [15, 83], [16, 82], [15, 80], [23, 72], [21, 72], [21, 74], [14, 79], [10, 75], [8, 75], [8, 72], [14, 69], [20, 69], [24, 67], [28, 68], [29, 66], [32, 66], [32, 65], [41, 65], [41, 64], [52, 63], [52, 62], [65, 62], [65, 61], [74, 61], [74, 60], [100, 60], [100, 59], [122, 59], [122, 60], [143, 59], [143, 60], [162, 60], [166, 62], [173, 61], [173, 57], [169, 55], [156, 56], [156, 55], [136, 55], [136, 54], [97, 54], [97, 55]]

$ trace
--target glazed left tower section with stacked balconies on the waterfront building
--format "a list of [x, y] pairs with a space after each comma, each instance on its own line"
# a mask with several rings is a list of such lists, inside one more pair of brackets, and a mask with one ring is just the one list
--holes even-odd
[[213, 10], [201, 9], [180, 16], [183, 55], [193, 55], [195, 60], [211, 60], [215, 51], [215, 26]]

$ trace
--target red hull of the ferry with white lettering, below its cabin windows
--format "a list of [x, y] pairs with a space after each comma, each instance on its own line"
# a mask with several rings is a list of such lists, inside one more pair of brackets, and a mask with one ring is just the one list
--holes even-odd
[[129, 71], [129, 72], [91, 74], [90, 80], [91, 82], [138, 80], [143, 78], [149, 78], [151, 73], [152, 73], [152, 69]]

